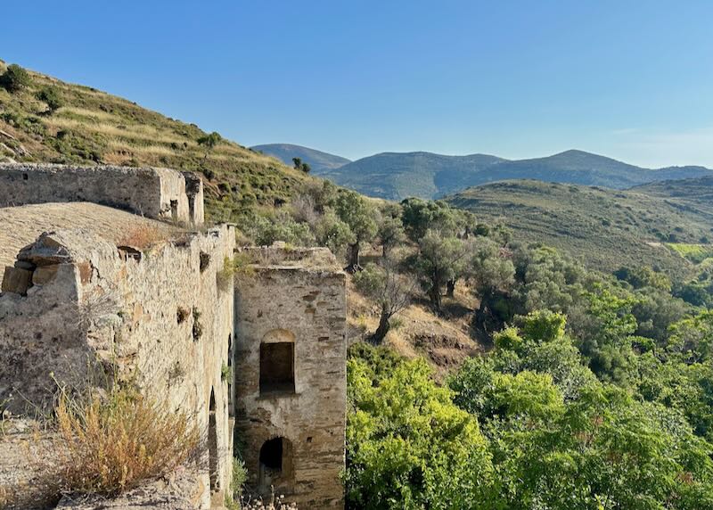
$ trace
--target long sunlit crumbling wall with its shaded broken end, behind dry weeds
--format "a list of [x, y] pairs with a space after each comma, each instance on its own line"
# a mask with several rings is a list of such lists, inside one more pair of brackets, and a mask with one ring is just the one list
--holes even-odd
[[55, 379], [95, 381], [98, 368], [130, 378], [195, 418], [207, 461], [195, 502], [222, 502], [232, 469], [224, 367], [234, 292], [221, 270], [233, 249], [231, 226], [143, 253], [119, 251], [89, 231], [43, 234], [20, 252], [4, 279], [14, 286], [0, 294], [0, 401], [10, 398], [13, 412], [29, 402], [49, 407]]

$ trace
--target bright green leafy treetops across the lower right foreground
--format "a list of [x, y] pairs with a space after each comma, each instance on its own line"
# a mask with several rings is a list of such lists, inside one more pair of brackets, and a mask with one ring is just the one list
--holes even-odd
[[422, 361], [353, 348], [349, 503], [713, 508], [710, 364], [649, 352], [637, 358], [633, 387], [602, 382], [564, 322], [553, 312], [520, 317], [448, 389]]

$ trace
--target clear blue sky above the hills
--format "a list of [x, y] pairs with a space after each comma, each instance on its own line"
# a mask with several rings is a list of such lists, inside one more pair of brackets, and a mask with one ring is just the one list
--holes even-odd
[[7, 2], [0, 58], [241, 144], [713, 167], [709, 0]]

